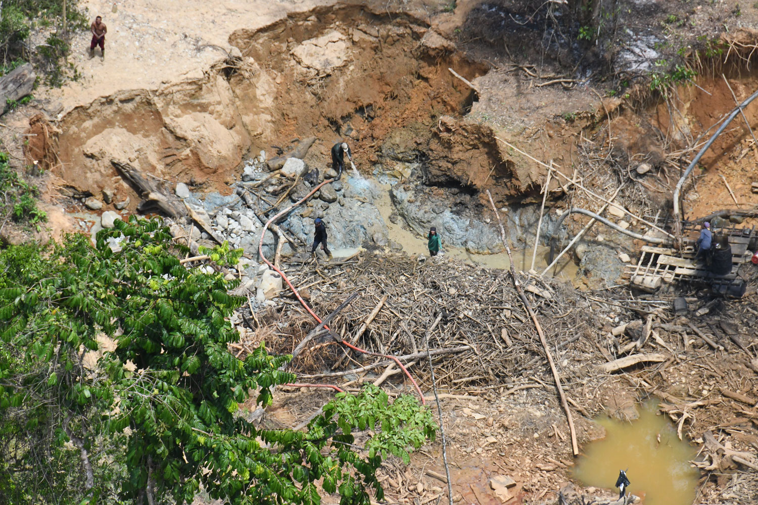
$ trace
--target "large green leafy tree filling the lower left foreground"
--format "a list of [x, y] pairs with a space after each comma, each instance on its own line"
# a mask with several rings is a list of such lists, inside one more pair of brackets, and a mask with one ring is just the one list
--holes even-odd
[[[92, 247], [0, 251], [0, 501], [341, 503], [383, 496], [375, 472], [434, 438], [415, 397], [337, 394], [305, 432], [259, 429], [238, 411], [292, 382], [263, 344], [245, 360], [219, 263], [187, 268], [158, 220], [117, 220]], [[362, 444], [355, 432], [365, 431]]]

